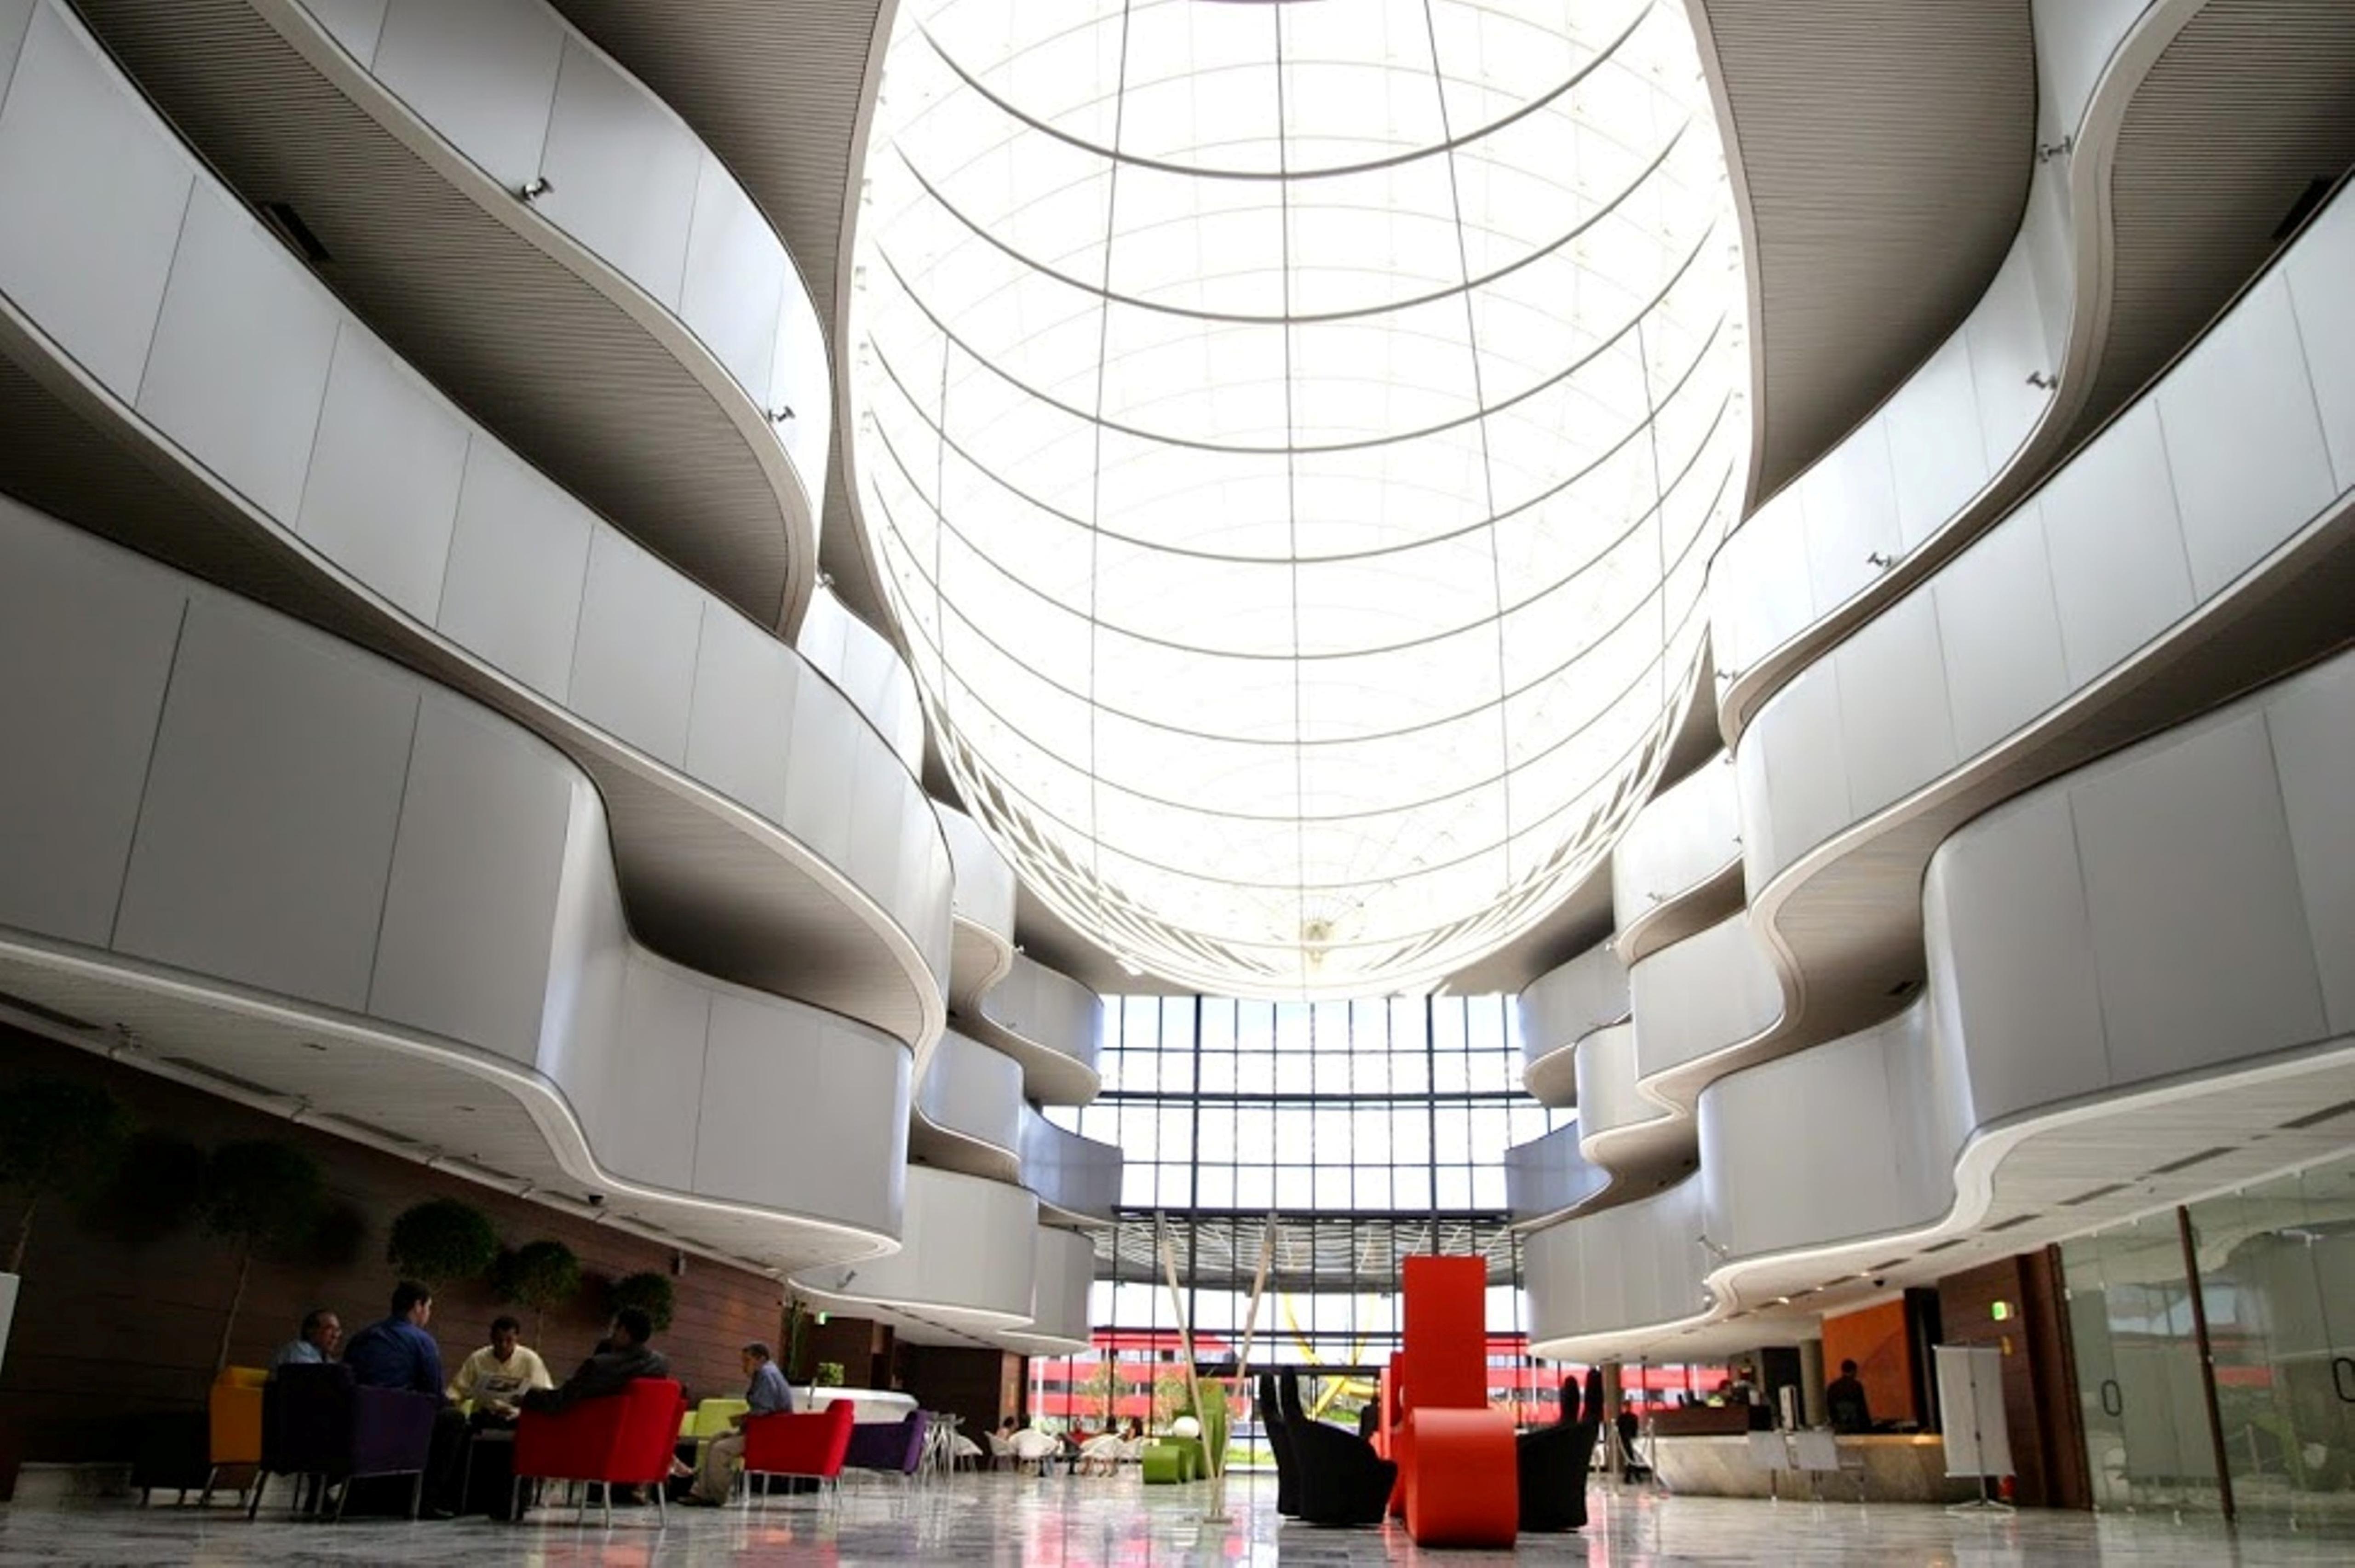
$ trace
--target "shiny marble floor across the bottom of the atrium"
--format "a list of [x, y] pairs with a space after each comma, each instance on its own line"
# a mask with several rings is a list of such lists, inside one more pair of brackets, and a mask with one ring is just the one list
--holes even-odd
[[[900, 1495], [845, 1488], [838, 1507], [775, 1500], [768, 1511], [622, 1509], [612, 1530], [570, 1511], [492, 1521], [245, 1523], [231, 1509], [0, 1509], [0, 1563], [958, 1563], [989, 1568], [1154, 1568], [1156, 1563], [1495, 1563], [1491, 1552], [1418, 1552], [1399, 1528], [1314, 1530], [1274, 1511], [1272, 1476], [1236, 1476], [1232, 1523], [1206, 1526], [1206, 1488], [958, 1476]], [[1524, 1537], [1524, 1563], [1804, 1563], [2011, 1568], [2044, 1563], [2348, 1563], [2355, 1533], [2225, 1530], [2167, 1514], [1952, 1516], [1936, 1507], [1665, 1497], [1597, 1488], [1580, 1535]]]

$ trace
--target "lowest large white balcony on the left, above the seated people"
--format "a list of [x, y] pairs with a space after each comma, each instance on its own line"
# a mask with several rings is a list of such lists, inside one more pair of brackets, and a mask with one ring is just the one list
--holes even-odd
[[897, 1238], [907, 1045], [633, 942], [520, 725], [9, 499], [0, 718], [0, 989], [765, 1267]]

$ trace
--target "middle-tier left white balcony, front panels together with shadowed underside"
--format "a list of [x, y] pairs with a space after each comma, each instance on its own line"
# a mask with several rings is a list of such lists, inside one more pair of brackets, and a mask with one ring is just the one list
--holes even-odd
[[396, 360], [54, 2], [0, 104], [0, 214], [12, 417], [170, 478], [89, 443], [19, 447], [12, 487], [530, 725], [605, 793], [657, 946], [930, 1045], [949, 855], [893, 744]]

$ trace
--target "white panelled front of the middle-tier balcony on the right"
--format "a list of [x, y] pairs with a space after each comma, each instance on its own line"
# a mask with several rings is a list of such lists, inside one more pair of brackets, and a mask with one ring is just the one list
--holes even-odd
[[2346, 506], [2348, 275], [2339, 198], [2030, 501], [1759, 709], [1736, 749], [1752, 902], [1816, 845], [2058, 725]]

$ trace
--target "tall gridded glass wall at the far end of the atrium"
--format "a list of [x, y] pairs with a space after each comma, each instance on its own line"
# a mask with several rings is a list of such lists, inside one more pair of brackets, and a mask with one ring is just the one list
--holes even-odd
[[1031, 1363], [1041, 1422], [1170, 1420], [1185, 1368], [1161, 1238], [1196, 1356], [1218, 1363], [1241, 1354], [1269, 1227], [1251, 1363], [1305, 1373], [1312, 1410], [1347, 1422], [1373, 1398], [1399, 1349], [1401, 1260], [1451, 1253], [1488, 1260], [1491, 1401], [1552, 1420], [1566, 1368], [1528, 1358], [1502, 1156], [1571, 1111], [1519, 1088], [1510, 998], [1128, 996], [1104, 1008], [1104, 1092], [1046, 1114], [1123, 1149], [1121, 1212], [1097, 1238], [1095, 1349]]

